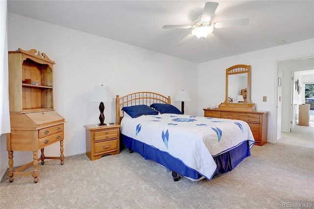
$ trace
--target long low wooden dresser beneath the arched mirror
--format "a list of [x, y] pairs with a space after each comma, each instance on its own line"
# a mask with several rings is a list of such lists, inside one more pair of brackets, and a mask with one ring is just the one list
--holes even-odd
[[253, 133], [255, 144], [262, 146], [267, 142], [268, 111], [204, 109], [204, 117], [242, 120], [248, 123]]

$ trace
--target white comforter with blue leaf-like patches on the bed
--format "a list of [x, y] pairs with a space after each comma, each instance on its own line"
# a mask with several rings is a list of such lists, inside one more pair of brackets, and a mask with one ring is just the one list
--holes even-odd
[[237, 147], [243, 141], [254, 144], [248, 124], [240, 120], [196, 117], [180, 114], [142, 115], [125, 113], [122, 134], [179, 158], [207, 179], [216, 171], [213, 157]]

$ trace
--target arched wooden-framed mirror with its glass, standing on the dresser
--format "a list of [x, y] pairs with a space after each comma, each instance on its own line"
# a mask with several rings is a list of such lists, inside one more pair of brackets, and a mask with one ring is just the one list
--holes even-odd
[[250, 65], [235, 65], [226, 69], [226, 99], [219, 109], [255, 110], [250, 100]]

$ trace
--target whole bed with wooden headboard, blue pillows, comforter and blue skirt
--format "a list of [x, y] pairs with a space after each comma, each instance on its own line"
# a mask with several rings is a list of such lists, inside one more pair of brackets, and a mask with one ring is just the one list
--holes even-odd
[[126, 148], [172, 171], [174, 181], [211, 180], [251, 155], [244, 121], [183, 115], [170, 97], [136, 92], [116, 97], [116, 123]]

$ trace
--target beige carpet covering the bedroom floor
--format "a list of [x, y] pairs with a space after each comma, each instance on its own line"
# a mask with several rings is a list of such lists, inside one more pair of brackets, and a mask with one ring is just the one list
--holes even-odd
[[84, 154], [66, 157], [62, 166], [59, 160], [47, 160], [39, 163], [36, 184], [29, 176], [16, 176], [13, 183], [7, 176], [2, 179], [0, 208], [278, 209], [301, 204], [313, 208], [314, 127], [298, 128], [295, 134], [284, 133], [277, 144], [253, 146], [251, 157], [211, 181], [173, 182], [170, 172], [126, 149], [95, 161]]

